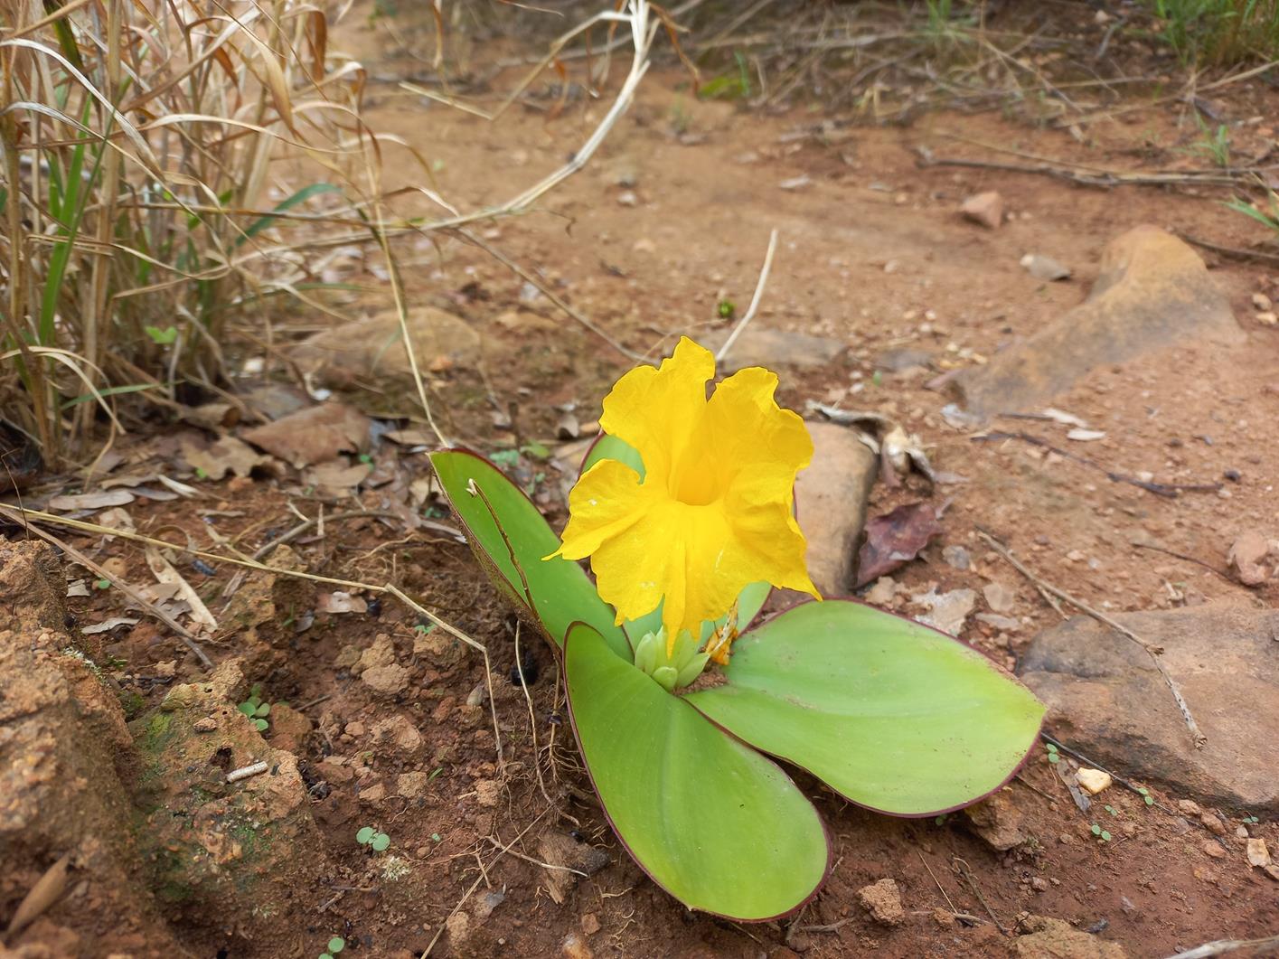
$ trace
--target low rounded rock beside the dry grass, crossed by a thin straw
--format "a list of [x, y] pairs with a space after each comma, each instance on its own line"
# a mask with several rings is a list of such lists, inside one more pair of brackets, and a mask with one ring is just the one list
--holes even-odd
[[[411, 307], [405, 325], [423, 372], [450, 366], [473, 367], [480, 361], [480, 334], [454, 313], [428, 306]], [[399, 315], [394, 309], [324, 330], [294, 347], [289, 357], [303, 373], [313, 373], [320, 382], [339, 389], [359, 381], [385, 386], [388, 380], [396, 380], [411, 385], [413, 377]]]

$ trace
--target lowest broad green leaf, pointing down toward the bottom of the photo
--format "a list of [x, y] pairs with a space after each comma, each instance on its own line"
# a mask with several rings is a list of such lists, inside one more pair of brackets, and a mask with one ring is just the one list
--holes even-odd
[[830, 849], [816, 809], [773, 762], [707, 722], [576, 623], [568, 705], [614, 830], [692, 909], [769, 919], [806, 903]]

